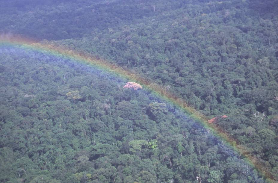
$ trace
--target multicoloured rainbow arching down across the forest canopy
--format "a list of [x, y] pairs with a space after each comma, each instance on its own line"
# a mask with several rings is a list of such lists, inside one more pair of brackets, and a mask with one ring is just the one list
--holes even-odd
[[245, 159], [250, 163], [256, 170], [258, 170], [261, 175], [267, 179], [268, 182], [275, 182], [274, 176], [270, 172], [269, 168], [265, 166], [262, 160], [257, 159], [252, 155], [250, 150], [238, 143], [238, 140], [231, 137], [224, 129], [220, 128], [214, 123], [209, 123], [206, 116], [197, 112], [194, 108], [191, 108], [183, 100], [175, 96], [173, 93], [167, 91], [164, 87], [147, 80], [140, 75], [131, 72], [122, 67], [116, 66], [108, 61], [105, 61], [101, 58], [96, 58], [90, 54], [84, 52], [76, 52], [66, 47], [56, 45], [54, 42], [37, 42], [30, 39], [23, 39], [20, 37], [9, 37], [1, 36], [0, 37], [0, 46], [1, 45], [10, 45], [10, 46], [19, 46], [25, 50], [35, 50], [39, 52], [47, 52], [48, 54], [62, 57], [66, 59], [71, 59], [76, 62], [84, 63], [89, 66], [93, 66], [96, 69], [100, 69], [105, 72], [113, 73], [122, 78], [126, 78], [130, 81], [137, 82], [143, 86], [144, 89], [150, 90], [155, 95], [160, 98], [170, 102], [170, 104], [175, 105], [180, 110], [185, 112], [193, 120], [199, 122], [204, 128], [206, 128], [214, 136], [223, 140], [227, 146], [233, 149], [239, 155], [243, 155]]

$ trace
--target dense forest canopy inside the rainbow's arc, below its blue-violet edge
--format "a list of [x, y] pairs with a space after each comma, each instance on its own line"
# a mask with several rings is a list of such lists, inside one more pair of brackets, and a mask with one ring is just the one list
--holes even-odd
[[0, 50], [1, 182], [264, 182], [149, 91], [62, 58]]

